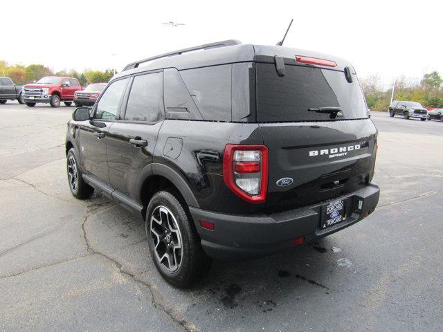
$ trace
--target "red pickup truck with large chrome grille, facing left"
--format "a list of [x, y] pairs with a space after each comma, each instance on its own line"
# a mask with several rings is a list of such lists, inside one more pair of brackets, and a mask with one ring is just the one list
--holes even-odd
[[76, 78], [48, 76], [35, 83], [26, 84], [22, 89], [23, 100], [29, 107], [34, 107], [37, 103], [49, 103], [52, 107], [59, 107], [61, 102], [71, 106], [75, 91], [83, 88]]

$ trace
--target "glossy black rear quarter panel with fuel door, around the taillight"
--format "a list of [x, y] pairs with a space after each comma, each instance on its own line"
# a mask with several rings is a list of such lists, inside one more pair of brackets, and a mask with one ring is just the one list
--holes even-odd
[[162, 163], [179, 173], [200, 208], [251, 213], [260, 210], [260, 204], [242, 201], [224, 184], [223, 153], [227, 144], [262, 142], [258, 124], [165, 120], [154, 150], [154, 163]]

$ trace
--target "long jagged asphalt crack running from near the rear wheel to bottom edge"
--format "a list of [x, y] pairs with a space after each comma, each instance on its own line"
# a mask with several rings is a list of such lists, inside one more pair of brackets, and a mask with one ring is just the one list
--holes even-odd
[[[82, 222], [84, 243], [86, 244], [87, 252], [89, 253], [89, 255], [100, 255], [101, 257], [111, 261], [116, 266], [116, 268], [120, 271], [120, 273], [122, 275], [126, 275], [127, 277], [132, 279], [134, 282], [136, 282], [137, 284], [141, 284], [142, 286], [146, 287], [150, 291], [151, 303], [152, 303], [152, 306], [154, 306], [154, 308], [156, 308], [160, 311], [163, 311], [163, 313], [168, 315], [168, 317], [170, 317], [170, 319], [173, 322], [175, 322], [176, 324], [179, 324], [179, 326], [181, 326], [185, 331], [187, 331], [187, 332], [197, 331], [194, 324], [192, 324], [191, 322], [189, 322], [185, 318], [181, 317], [181, 315], [179, 313], [177, 313], [177, 311], [175, 311], [174, 308], [171, 308], [170, 306], [167, 306], [167, 305], [160, 302], [161, 300], [158, 297], [161, 295], [159, 294], [158, 291], [154, 290], [155, 286], [153, 284], [150, 284], [149, 282], [145, 282], [142, 279], [139, 279], [138, 277], [136, 277], [135, 274], [130, 273], [128, 270], [124, 270], [123, 264], [120, 264], [118, 261], [116, 261], [116, 259], [109, 257], [108, 255], [94, 249], [91, 246], [91, 243], [89, 242], [89, 239], [87, 236], [87, 231], [85, 228], [86, 223], [89, 219], [89, 216], [93, 216], [93, 214], [87, 215]], [[143, 273], [143, 271], [142, 271], [142, 273]]]

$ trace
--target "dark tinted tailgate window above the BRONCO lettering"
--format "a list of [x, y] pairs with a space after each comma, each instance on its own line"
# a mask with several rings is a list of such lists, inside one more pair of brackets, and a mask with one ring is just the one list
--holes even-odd
[[256, 73], [258, 122], [330, 121], [329, 113], [312, 109], [337, 107], [335, 120], [368, 118], [355, 75], [348, 83], [343, 71], [287, 65], [280, 77], [274, 64], [260, 63]]

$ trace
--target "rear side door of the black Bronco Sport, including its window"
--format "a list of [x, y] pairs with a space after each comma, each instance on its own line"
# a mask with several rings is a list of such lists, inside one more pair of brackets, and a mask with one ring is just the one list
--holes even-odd
[[152, 169], [164, 119], [163, 71], [136, 75], [129, 85], [120, 120], [109, 129], [107, 154], [111, 185], [134, 199], [139, 177]]

